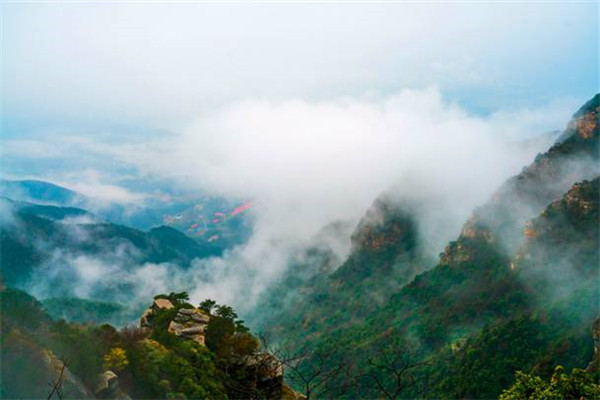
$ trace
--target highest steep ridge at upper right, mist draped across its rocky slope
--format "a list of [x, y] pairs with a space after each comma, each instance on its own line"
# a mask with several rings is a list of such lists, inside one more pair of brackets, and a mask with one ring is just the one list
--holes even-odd
[[546, 153], [509, 179], [465, 223], [457, 244], [449, 245], [441, 263], [474, 261], [472, 243], [486, 243], [512, 255], [518, 249], [525, 224], [561, 198], [576, 182], [593, 179], [599, 172], [600, 95], [586, 103]]

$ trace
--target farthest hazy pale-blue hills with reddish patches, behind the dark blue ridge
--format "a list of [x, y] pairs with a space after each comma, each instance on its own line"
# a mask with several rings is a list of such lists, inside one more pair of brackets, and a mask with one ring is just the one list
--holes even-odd
[[84, 209], [99, 219], [139, 230], [170, 226], [220, 251], [245, 243], [252, 233], [252, 218], [248, 212], [251, 202], [222, 196], [182, 195], [178, 198], [173, 195], [168, 201], [151, 196], [139, 203], [121, 204], [100, 201], [40, 180], [0, 180], [0, 190], [8, 201]]

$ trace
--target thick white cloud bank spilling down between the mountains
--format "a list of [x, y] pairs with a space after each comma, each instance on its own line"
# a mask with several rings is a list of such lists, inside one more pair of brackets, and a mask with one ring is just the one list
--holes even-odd
[[[98, 277], [90, 260], [63, 264], [86, 265], [77, 278], [86, 288], [98, 280], [100, 287], [127, 282], [135, 293], [136, 285], [143, 286], [138, 294], [144, 296], [188, 290], [194, 301], [214, 297], [243, 312], [324, 226], [336, 220], [356, 224], [383, 192], [420, 204], [415, 217], [426, 250], [435, 256], [458, 235], [475, 206], [546, 149], [546, 141], [520, 145], [516, 139], [542, 133], [531, 129], [564, 126], [573, 110], [561, 104], [566, 103], [482, 117], [446, 101], [433, 88], [377, 98], [246, 100], [153, 138], [69, 141], [74, 154], [85, 159], [92, 152], [140, 177], [252, 199], [255, 225], [247, 244], [221, 258], [196, 260], [185, 272], [168, 264], [133, 268], [124, 259], [114, 261], [121, 267], [108, 266], [108, 276]], [[558, 121], [557, 115], [565, 120]], [[83, 180], [71, 187], [89, 195], [136, 200], [98, 184], [110, 180], [110, 174], [71, 176], [77, 177]], [[350, 232], [333, 236], [320, 240], [343, 260]]]

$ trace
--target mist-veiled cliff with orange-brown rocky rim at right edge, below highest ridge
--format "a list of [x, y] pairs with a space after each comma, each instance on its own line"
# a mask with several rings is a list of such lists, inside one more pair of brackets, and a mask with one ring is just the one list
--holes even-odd
[[599, 178], [574, 184], [527, 223], [511, 263], [540, 301], [577, 303], [570, 314], [583, 317], [587, 311], [585, 320], [597, 314], [600, 303], [599, 198]]

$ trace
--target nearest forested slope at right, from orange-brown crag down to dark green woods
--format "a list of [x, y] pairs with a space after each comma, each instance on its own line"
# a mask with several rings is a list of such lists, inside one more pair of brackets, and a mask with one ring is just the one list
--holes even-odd
[[431, 397], [491, 398], [517, 370], [550, 377], [555, 365], [587, 365], [600, 315], [599, 198], [598, 178], [576, 183], [527, 224], [510, 275], [527, 289], [534, 313], [513, 309], [509, 319], [440, 350], [427, 371]]

